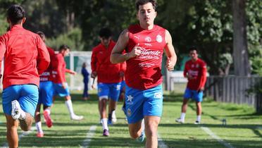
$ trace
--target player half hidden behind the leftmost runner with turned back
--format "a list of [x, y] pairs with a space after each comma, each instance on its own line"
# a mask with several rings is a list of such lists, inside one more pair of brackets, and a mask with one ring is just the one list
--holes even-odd
[[[43, 32], [37, 32], [37, 35], [41, 37], [43, 42], [46, 41], [46, 37]], [[54, 58], [55, 53], [54, 50], [50, 47], [47, 47], [50, 55], [50, 59], [52, 62], [52, 58]], [[42, 130], [42, 122], [41, 122], [41, 104], [43, 104], [43, 114], [44, 119], [46, 121], [46, 125], [48, 128], [51, 128], [53, 125], [51, 120], [51, 105], [53, 104], [53, 96], [54, 96], [54, 87], [53, 82], [51, 81], [51, 63], [49, 67], [40, 75], [40, 85], [39, 85], [39, 100], [37, 104], [37, 109], [35, 110], [35, 126], [37, 128], [37, 137], [44, 137], [44, 132]]]

